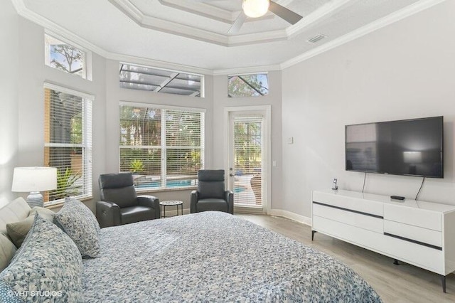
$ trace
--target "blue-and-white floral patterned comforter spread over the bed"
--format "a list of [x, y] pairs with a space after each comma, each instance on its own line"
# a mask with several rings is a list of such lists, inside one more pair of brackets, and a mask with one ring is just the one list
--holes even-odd
[[381, 302], [328, 255], [228, 213], [100, 230], [86, 302]]

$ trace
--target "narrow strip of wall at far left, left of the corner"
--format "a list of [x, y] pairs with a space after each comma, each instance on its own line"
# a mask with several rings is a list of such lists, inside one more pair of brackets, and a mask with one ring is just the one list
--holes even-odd
[[0, 10], [0, 208], [15, 197], [11, 180], [18, 158], [18, 22], [11, 1], [4, 1]]

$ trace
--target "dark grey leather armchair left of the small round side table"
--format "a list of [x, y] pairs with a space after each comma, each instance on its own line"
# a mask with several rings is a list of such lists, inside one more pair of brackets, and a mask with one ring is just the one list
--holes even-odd
[[159, 198], [137, 196], [132, 174], [102, 174], [97, 219], [102, 228], [160, 218]]

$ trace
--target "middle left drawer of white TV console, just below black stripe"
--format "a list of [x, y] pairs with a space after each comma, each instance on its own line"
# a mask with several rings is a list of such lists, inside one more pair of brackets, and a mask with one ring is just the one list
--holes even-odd
[[323, 206], [313, 203], [313, 216], [319, 216], [358, 228], [371, 230], [376, 233], [383, 233], [383, 224], [381, 218], [354, 213], [352, 211], [343, 211], [333, 206]]

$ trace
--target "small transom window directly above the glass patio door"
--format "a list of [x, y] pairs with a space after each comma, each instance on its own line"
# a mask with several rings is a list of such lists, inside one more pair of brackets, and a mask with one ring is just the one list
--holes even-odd
[[268, 93], [267, 73], [228, 76], [228, 97], [257, 97]]

